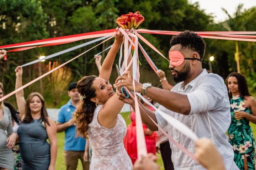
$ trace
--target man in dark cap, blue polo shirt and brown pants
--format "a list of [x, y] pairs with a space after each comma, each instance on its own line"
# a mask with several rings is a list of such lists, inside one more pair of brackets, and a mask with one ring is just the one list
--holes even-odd
[[68, 95], [70, 100], [60, 108], [57, 120], [57, 132], [65, 131], [64, 161], [66, 170], [75, 170], [78, 159], [82, 162], [83, 170], [89, 170], [89, 162], [84, 160], [85, 143], [83, 137], [76, 137], [76, 126], [73, 114], [80, 103], [77, 83], [70, 83]]

